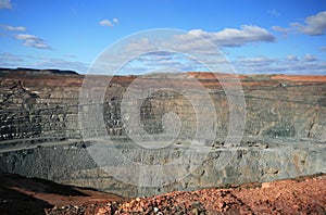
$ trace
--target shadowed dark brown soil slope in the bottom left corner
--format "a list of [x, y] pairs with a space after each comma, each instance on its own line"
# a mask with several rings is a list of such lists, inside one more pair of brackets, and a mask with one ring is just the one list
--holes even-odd
[[124, 198], [93, 189], [0, 174], [0, 215], [45, 214], [46, 208], [54, 205], [90, 205], [123, 200]]

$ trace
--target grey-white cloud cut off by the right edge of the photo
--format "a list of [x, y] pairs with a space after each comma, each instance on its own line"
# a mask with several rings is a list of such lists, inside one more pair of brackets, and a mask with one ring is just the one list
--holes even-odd
[[325, 35], [326, 33], [326, 11], [322, 11], [315, 15], [309, 16], [304, 20], [304, 24], [291, 23], [291, 26], [297, 28], [300, 33], [305, 35]]

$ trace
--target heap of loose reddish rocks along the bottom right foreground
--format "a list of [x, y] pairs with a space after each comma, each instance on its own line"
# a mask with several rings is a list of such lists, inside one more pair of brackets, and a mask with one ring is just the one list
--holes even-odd
[[324, 214], [325, 210], [324, 175], [229, 189], [175, 191], [124, 203], [54, 207], [47, 214]]

